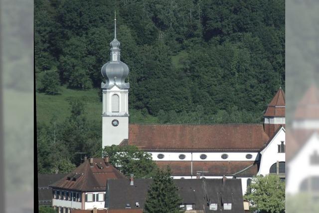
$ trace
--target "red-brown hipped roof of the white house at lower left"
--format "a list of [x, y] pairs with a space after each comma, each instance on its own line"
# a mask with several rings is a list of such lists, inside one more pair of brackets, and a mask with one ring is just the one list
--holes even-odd
[[93, 164], [90, 164], [90, 159], [87, 159], [70, 174], [52, 184], [52, 188], [81, 192], [101, 192], [105, 191], [108, 179], [121, 178], [126, 177], [111, 164], [106, 166], [104, 159], [94, 158]]

